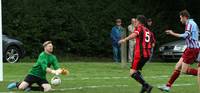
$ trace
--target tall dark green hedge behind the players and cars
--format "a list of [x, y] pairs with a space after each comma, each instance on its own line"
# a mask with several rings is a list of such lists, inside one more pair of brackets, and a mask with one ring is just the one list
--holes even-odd
[[61, 55], [110, 56], [115, 18], [122, 18], [125, 27], [137, 14], [152, 18], [160, 45], [169, 40], [165, 29], [183, 29], [180, 10], [188, 9], [200, 20], [198, 4], [198, 0], [2, 0], [3, 33], [20, 39], [33, 57], [45, 40], [52, 40]]

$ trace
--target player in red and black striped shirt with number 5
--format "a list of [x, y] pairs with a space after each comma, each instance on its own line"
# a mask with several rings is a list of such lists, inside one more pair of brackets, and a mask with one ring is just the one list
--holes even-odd
[[[142, 77], [139, 70], [142, 70], [142, 67], [149, 60], [151, 55], [152, 42], [155, 39], [152, 37], [152, 32], [145, 27], [146, 18], [143, 15], [138, 15], [136, 18], [135, 30], [128, 37], [119, 41], [119, 43], [124, 43], [127, 40], [136, 38], [136, 45], [134, 51], [134, 60], [130, 69], [130, 76], [138, 81], [142, 85], [142, 90], [140, 93], [151, 93], [152, 86], [150, 86]], [[154, 40], [154, 41], [152, 41]]]

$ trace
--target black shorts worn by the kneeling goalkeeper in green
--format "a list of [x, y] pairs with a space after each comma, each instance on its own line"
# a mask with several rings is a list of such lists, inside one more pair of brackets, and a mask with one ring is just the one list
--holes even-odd
[[27, 82], [29, 86], [34, 83], [38, 84], [40, 87], [42, 86], [42, 84], [48, 84], [48, 81], [46, 79], [42, 79], [33, 75], [27, 75], [24, 81]]

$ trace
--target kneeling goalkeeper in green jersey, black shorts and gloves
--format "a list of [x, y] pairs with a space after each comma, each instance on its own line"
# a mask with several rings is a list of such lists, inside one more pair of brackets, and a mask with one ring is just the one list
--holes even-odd
[[[46, 79], [46, 73], [51, 73], [55, 75], [68, 74], [67, 70], [60, 68], [56, 56], [52, 54], [52, 42], [44, 42], [43, 47], [44, 51], [40, 53], [37, 62], [33, 65], [32, 69], [29, 71], [24, 81], [10, 83], [7, 86], [8, 89], [11, 90], [17, 88], [24, 91], [33, 90], [47, 92], [50, 91], [52, 88]], [[51, 69], [50, 66], [53, 66], [53, 69]], [[32, 87], [32, 84], [34, 83], [38, 84], [39, 87]]]

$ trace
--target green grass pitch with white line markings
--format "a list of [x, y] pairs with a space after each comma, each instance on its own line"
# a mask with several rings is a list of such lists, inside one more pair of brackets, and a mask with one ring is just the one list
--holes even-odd
[[[0, 82], [0, 93], [10, 92], [6, 89], [7, 84], [23, 80], [32, 65], [4, 63], [4, 81]], [[167, 82], [174, 65], [175, 63], [148, 63], [144, 66], [142, 73], [146, 81], [154, 86], [152, 93], [162, 93], [157, 86]], [[67, 67], [70, 75], [61, 76], [62, 84], [53, 86], [56, 90], [50, 93], [139, 93], [141, 88], [135, 80], [129, 78], [129, 66], [121, 68], [120, 64], [110, 62], [67, 62], [61, 63], [61, 66]], [[51, 77], [52, 75], [48, 75], [48, 79]], [[182, 86], [174, 86], [170, 93], [198, 93], [196, 81], [194, 76], [183, 75], [175, 82], [175, 85]], [[18, 90], [12, 92], [20, 93]]]

